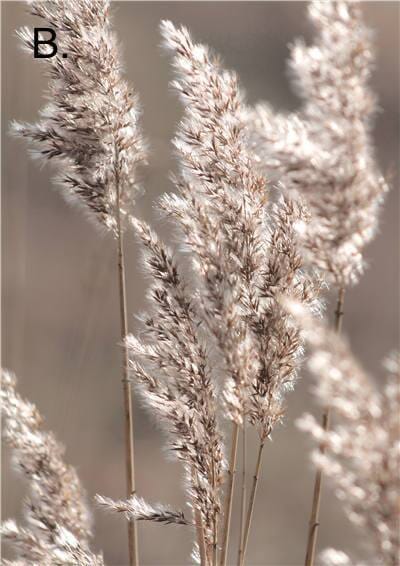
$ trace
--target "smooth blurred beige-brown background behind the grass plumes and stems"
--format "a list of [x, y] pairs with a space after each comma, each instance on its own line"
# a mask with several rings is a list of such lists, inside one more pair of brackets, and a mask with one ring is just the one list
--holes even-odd
[[[373, 82], [382, 111], [374, 137], [380, 164], [394, 178], [380, 233], [367, 250], [370, 268], [347, 297], [344, 329], [364, 366], [380, 380], [380, 360], [398, 344], [399, 330], [399, 4], [369, 2], [363, 8], [378, 48]], [[121, 497], [125, 486], [113, 242], [65, 204], [52, 186], [49, 168], [32, 162], [24, 144], [6, 133], [11, 119], [36, 118], [46, 86], [41, 62], [22, 53], [14, 36], [18, 26], [32, 21], [24, 10], [23, 3], [2, 3], [3, 365], [17, 373], [22, 393], [37, 404], [65, 444], [89, 497]], [[157, 221], [152, 203], [172, 190], [170, 139], [181, 113], [168, 87], [171, 70], [159, 47], [159, 20], [186, 24], [198, 40], [221, 54], [227, 67], [238, 71], [250, 102], [265, 98], [282, 110], [298, 104], [287, 80], [287, 44], [299, 35], [310, 38], [311, 30], [303, 2], [122, 2], [114, 4], [114, 15], [152, 149], [138, 214]], [[134, 314], [145, 306], [145, 281], [131, 241], [127, 256], [133, 329]], [[308, 441], [294, 420], [311, 406], [308, 389], [304, 375], [288, 400], [285, 424], [266, 451], [249, 565], [302, 564], [313, 473]], [[150, 501], [180, 505], [181, 468], [166, 457], [154, 420], [140, 406], [135, 409], [139, 492]], [[251, 453], [250, 462], [253, 458]], [[23, 484], [10, 471], [7, 450], [2, 489], [3, 517], [19, 516]], [[106, 563], [126, 564], [123, 519], [98, 510], [94, 518], [94, 544], [104, 551]], [[139, 529], [143, 565], [189, 563], [184, 528], [142, 524]], [[326, 490], [320, 546], [328, 545], [367, 556], [362, 537]]]

